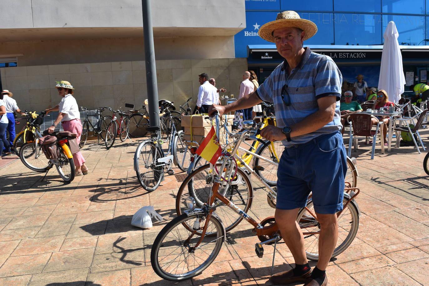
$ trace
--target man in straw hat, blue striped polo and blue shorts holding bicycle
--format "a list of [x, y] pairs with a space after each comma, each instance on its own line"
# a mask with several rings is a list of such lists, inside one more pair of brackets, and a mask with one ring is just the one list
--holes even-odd
[[[275, 220], [295, 260], [295, 268], [273, 275], [275, 284], [326, 285], [326, 267], [338, 238], [336, 213], [343, 205], [346, 152], [341, 136], [340, 98], [342, 76], [328, 56], [303, 48], [303, 41], [317, 32], [316, 25], [294, 11], [277, 15], [259, 34], [274, 42], [284, 62], [258, 89], [226, 106], [212, 105], [220, 114], [249, 108], [262, 101], [274, 102], [277, 126], [261, 135], [281, 140], [286, 147], [277, 171]], [[304, 237], [296, 223], [300, 208], [312, 193], [320, 223], [319, 260], [311, 271]]]

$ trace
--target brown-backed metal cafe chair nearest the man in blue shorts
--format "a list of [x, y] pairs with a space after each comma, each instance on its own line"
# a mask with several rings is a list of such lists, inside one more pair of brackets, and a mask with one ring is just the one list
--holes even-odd
[[[372, 129], [373, 127], [371, 122], [372, 118], [375, 118], [378, 122], [377, 125], [375, 126], [375, 130]], [[368, 143], [368, 138], [372, 137], [371, 159], [374, 159], [375, 143], [376, 143], [377, 135], [379, 135], [380, 143], [381, 143], [381, 154], [384, 154], [384, 144], [382, 141], [383, 132], [381, 129], [381, 124], [383, 124], [383, 122], [380, 122], [377, 117], [371, 114], [362, 114], [362, 113], [351, 114], [349, 117], [347, 117], [347, 122], [350, 123], [349, 149], [347, 153], [348, 157], [351, 156], [352, 143], [354, 145], [354, 150], [357, 151], [357, 143], [358, 143], [357, 136], [365, 137], [367, 143]]]

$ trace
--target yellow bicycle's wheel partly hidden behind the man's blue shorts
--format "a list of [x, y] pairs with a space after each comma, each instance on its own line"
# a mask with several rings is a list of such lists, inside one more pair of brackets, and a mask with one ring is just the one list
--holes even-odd
[[[257, 154], [267, 159], [271, 159], [275, 163], [278, 163], [280, 161], [281, 154], [283, 153], [284, 146], [281, 144], [281, 141], [275, 141], [273, 142], [274, 150], [272, 150], [270, 143], [271, 142], [266, 141], [265, 144], [259, 149]], [[260, 176], [260, 178], [269, 186], [277, 186], [277, 168], [275, 168], [275, 166], [271, 163], [261, 160], [258, 157], [255, 157], [253, 162], [253, 169], [257, 175]], [[263, 169], [255, 168], [256, 166], [260, 166]]]

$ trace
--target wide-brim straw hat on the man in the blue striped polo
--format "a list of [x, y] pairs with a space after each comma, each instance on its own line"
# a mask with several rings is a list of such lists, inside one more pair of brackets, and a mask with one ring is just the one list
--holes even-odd
[[284, 11], [277, 14], [275, 21], [268, 22], [260, 27], [259, 36], [268, 42], [274, 42], [272, 32], [288, 27], [296, 27], [305, 31], [304, 41], [310, 39], [317, 32], [317, 26], [313, 22], [301, 19], [295, 11]]

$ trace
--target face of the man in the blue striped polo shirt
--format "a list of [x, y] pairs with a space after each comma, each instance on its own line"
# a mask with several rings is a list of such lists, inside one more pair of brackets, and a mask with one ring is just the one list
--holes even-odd
[[305, 32], [298, 33], [294, 27], [274, 31], [274, 42], [278, 53], [285, 59], [293, 57], [302, 48]]

